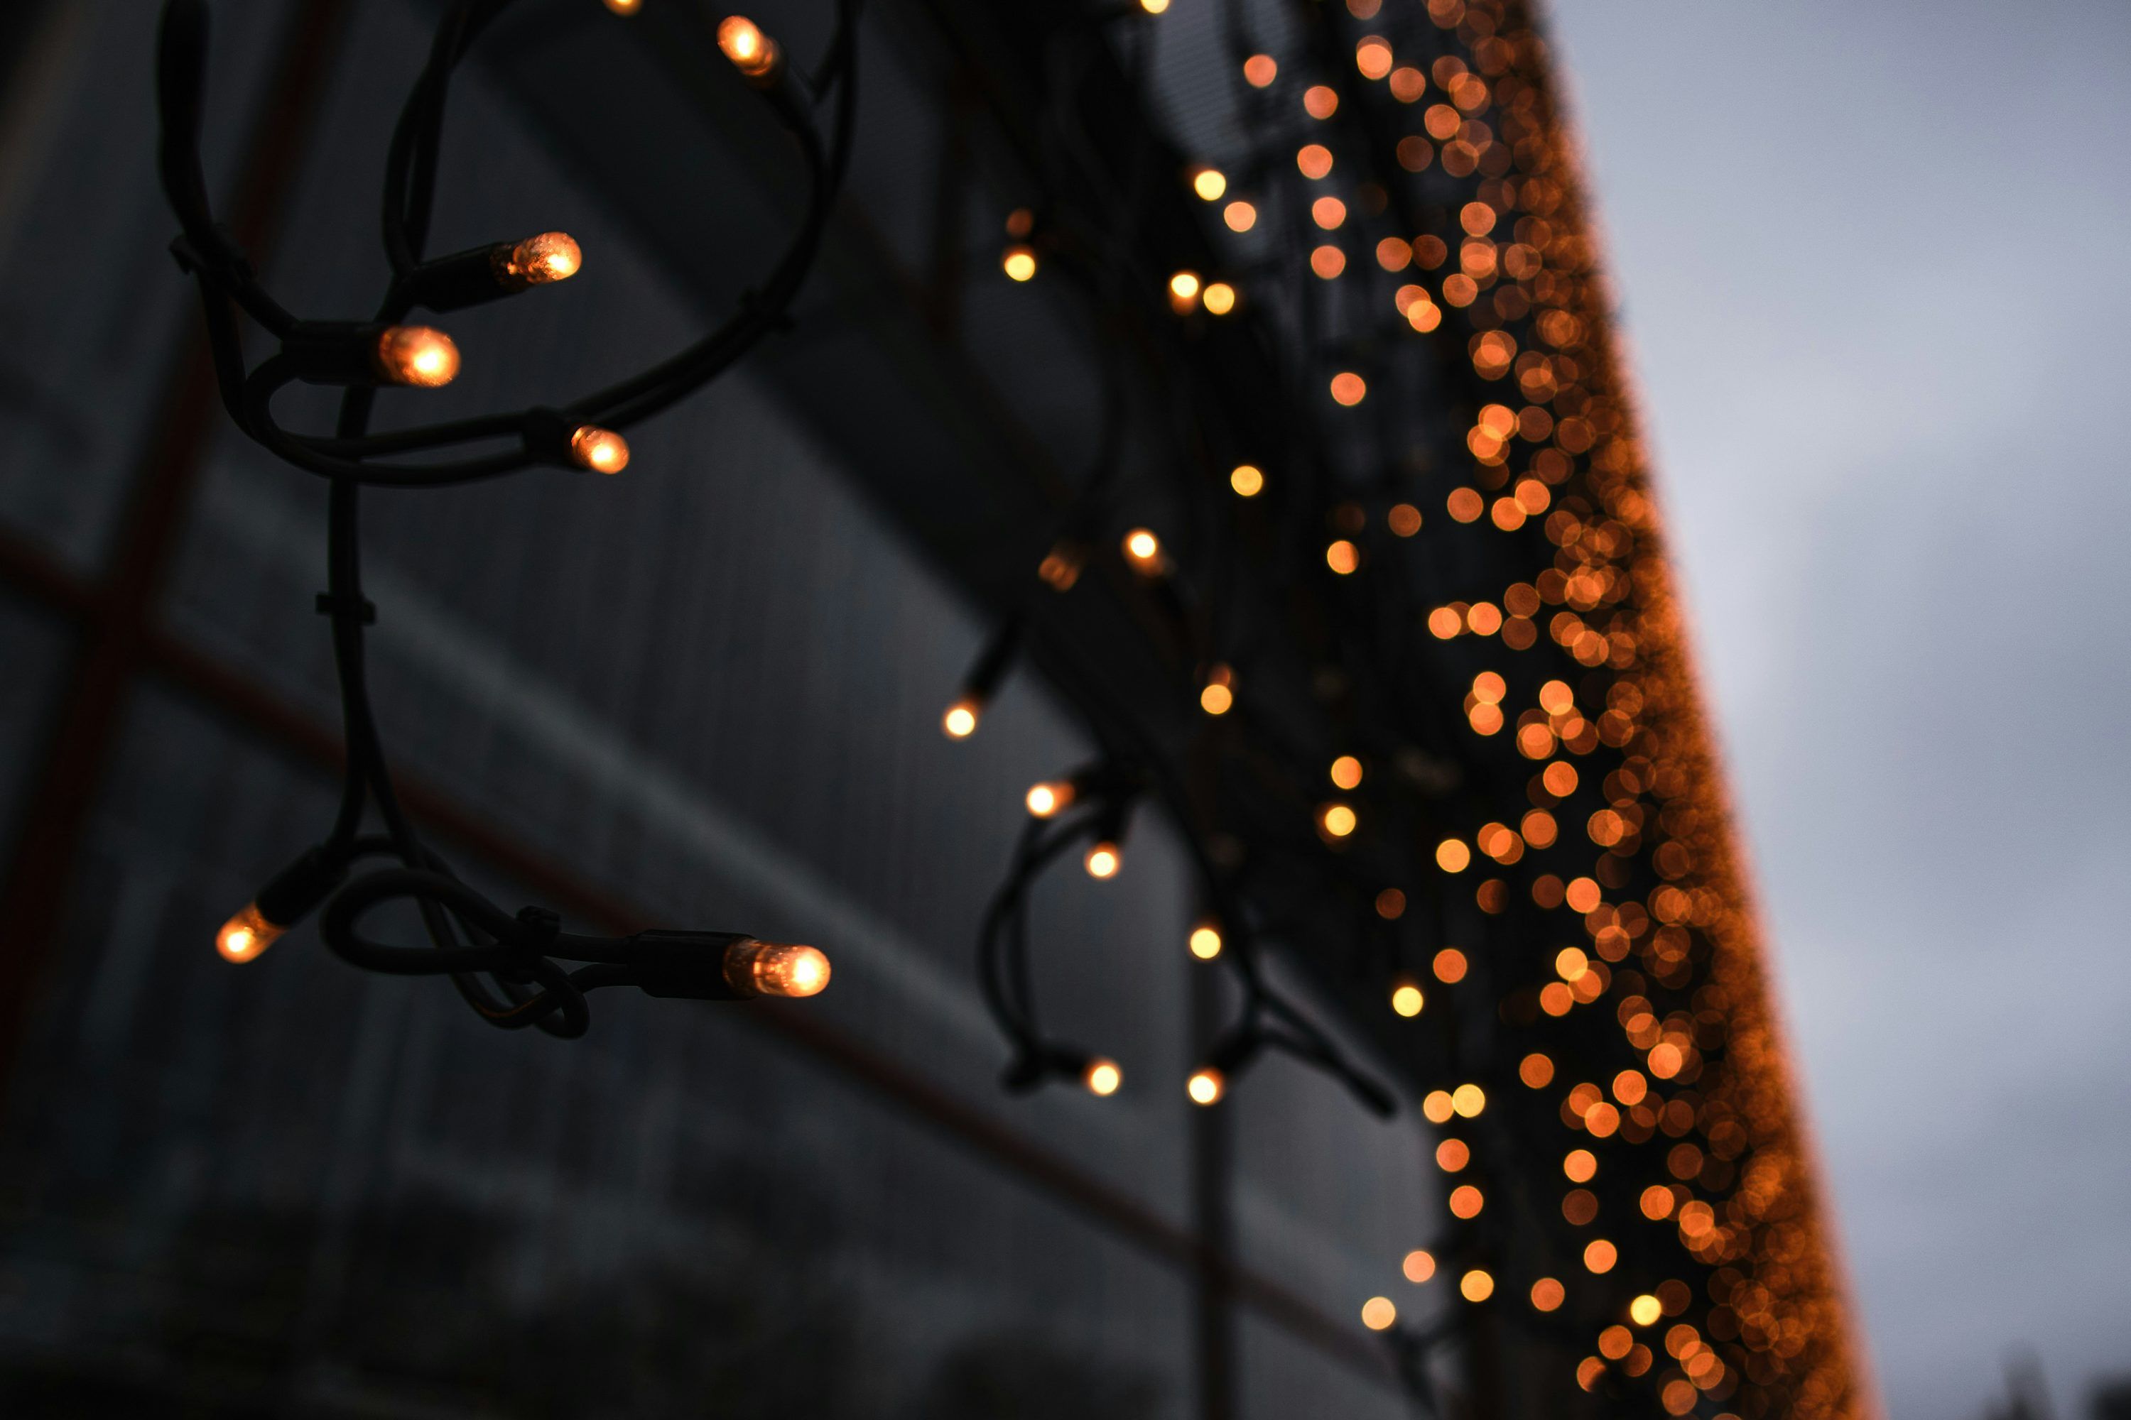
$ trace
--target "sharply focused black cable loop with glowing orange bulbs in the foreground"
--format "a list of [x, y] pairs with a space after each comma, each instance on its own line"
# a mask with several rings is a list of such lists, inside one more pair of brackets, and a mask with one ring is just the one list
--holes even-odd
[[[511, 0], [458, 0], [443, 9], [430, 60], [401, 109], [386, 155], [384, 245], [392, 279], [369, 321], [296, 317], [266, 292], [251, 262], [215, 224], [200, 164], [209, 11], [205, 0], [166, 0], [162, 11], [158, 166], [181, 226], [173, 253], [179, 268], [198, 283], [215, 377], [230, 417], [283, 462], [330, 483], [328, 590], [320, 596], [320, 611], [332, 626], [347, 745], [341, 809], [332, 830], [239, 909], [217, 932], [215, 947], [230, 962], [256, 960], [292, 926], [324, 909], [320, 935], [343, 960], [390, 975], [448, 975], [490, 1024], [537, 1026], [558, 1037], [584, 1035], [590, 1024], [586, 994], [605, 986], [635, 986], [652, 996], [695, 1001], [812, 996], [829, 984], [831, 969], [829, 958], [810, 945], [767, 943], [739, 932], [586, 937], [565, 932], [558, 918], [537, 907], [505, 913], [458, 881], [422, 843], [392, 790], [364, 668], [364, 628], [375, 620], [375, 609], [362, 596], [360, 492], [437, 488], [541, 464], [599, 475], [629, 468], [631, 449], [622, 430], [716, 379], [784, 319], [814, 264], [850, 153], [859, 2], [837, 0], [835, 36], [820, 68], [808, 79], [791, 72], [778, 43], [750, 19], [722, 19], [716, 30], [718, 49], [765, 96], [795, 141], [812, 187], [808, 213], [767, 279], [695, 345], [567, 407], [371, 434], [379, 392], [437, 390], [460, 373], [462, 358], [450, 332], [411, 321], [416, 311], [445, 315], [522, 296], [569, 281], [584, 266], [584, 251], [567, 232], [537, 232], [441, 258], [424, 255], [437, 207], [452, 72], [509, 4]], [[639, 4], [641, 0], [607, 0], [616, 15], [633, 15]], [[831, 109], [827, 138], [814, 119], [823, 104]], [[247, 360], [241, 317], [249, 317], [273, 345], [264, 360]], [[345, 390], [330, 434], [296, 432], [279, 424], [273, 400], [294, 381]], [[409, 462], [452, 449], [458, 453]], [[373, 809], [384, 824], [381, 835], [364, 832]], [[396, 866], [371, 869], [349, 881], [349, 873], [373, 858]], [[362, 918], [390, 901], [407, 901], [418, 909], [426, 945], [396, 947], [364, 935]], [[582, 964], [565, 969], [560, 962]]]

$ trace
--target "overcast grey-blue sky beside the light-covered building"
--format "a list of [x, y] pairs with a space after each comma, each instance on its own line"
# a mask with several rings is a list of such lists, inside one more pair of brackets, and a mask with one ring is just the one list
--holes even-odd
[[2131, 2], [1553, 0], [1894, 1420], [2131, 1373]]

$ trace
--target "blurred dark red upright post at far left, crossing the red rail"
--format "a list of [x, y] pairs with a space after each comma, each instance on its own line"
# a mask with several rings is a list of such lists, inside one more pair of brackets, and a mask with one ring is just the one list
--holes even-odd
[[[311, 0], [296, 11], [279, 77], [251, 126], [230, 230], [256, 260], [279, 228], [345, 6], [347, 0]], [[151, 13], [141, 11], [149, 23]], [[179, 279], [175, 270], [170, 279]], [[81, 643], [23, 800], [15, 860], [0, 886], [0, 1086], [21, 1050], [30, 1001], [58, 947], [72, 875], [119, 747], [156, 605], [177, 560], [219, 415], [207, 334], [196, 326], [164, 381], [153, 434], [81, 622]]]

